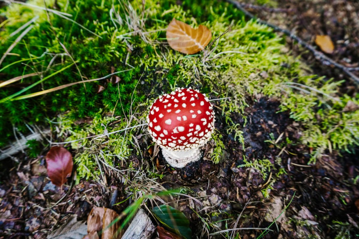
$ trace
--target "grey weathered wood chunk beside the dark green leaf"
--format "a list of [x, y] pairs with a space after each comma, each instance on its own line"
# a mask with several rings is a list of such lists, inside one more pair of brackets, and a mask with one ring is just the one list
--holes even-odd
[[156, 227], [149, 216], [143, 209], [140, 209], [123, 234], [122, 239], [149, 239], [155, 230]]

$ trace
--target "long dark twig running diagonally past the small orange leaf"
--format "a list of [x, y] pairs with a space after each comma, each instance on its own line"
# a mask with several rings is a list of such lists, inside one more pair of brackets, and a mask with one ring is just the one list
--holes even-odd
[[249, 11], [247, 11], [246, 9], [243, 8], [243, 6], [238, 3], [235, 0], [226, 0], [228, 3], [233, 4], [234, 6], [236, 6], [236, 8], [238, 8], [239, 10], [243, 11], [244, 15], [248, 16], [249, 18], [253, 18], [253, 19], [257, 19], [257, 22], [263, 25], [267, 25], [270, 28], [273, 28], [275, 31], [277, 32], [281, 32], [284, 33], [286, 35], [288, 35], [290, 38], [292, 38], [293, 40], [297, 41], [300, 45], [302, 45], [303, 47], [307, 48], [309, 51], [311, 51], [314, 55], [314, 57], [321, 61], [322, 64], [328, 66], [328, 65], [333, 65], [336, 68], [342, 70], [346, 75], [348, 75], [350, 78], [353, 79], [354, 83], [359, 84], [359, 77], [355, 76], [353, 73], [351, 73], [347, 67], [343, 66], [342, 64], [339, 64], [337, 62], [335, 62], [334, 60], [332, 60], [331, 58], [327, 57], [325, 54], [323, 54], [322, 52], [317, 51], [312, 45], [304, 42], [301, 38], [299, 38], [297, 35], [293, 34], [292, 32], [290, 32], [289, 30], [286, 29], [282, 29], [274, 24], [268, 23], [267, 21], [261, 20], [260, 18], [257, 18], [255, 15], [251, 14]]

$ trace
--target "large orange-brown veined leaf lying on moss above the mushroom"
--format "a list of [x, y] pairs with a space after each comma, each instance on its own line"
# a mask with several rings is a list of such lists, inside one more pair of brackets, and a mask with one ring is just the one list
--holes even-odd
[[208, 45], [212, 33], [204, 25], [199, 25], [197, 29], [194, 29], [183, 21], [173, 18], [168, 25], [166, 37], [169, 46], [174, 50], [185, 54], [195, 54]]

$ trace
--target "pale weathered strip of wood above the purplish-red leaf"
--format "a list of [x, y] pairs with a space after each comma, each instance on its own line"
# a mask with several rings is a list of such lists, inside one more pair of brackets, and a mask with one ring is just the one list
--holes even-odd
[[28, 145], [26, 144], [28, 140], [42, 140], [43, 135], [50, 135], [50, 129], [46, 129], [42, 131], [41, 133], [33, 133], [30, 134], [24, 138], [20, 138], [19, 140], [15, 140], [13, 143], [8, 145], [6, 148], [0, 150], [0, 160], [3, 160], [5, 158], [11, 157], [20, 151], [27, 149]]

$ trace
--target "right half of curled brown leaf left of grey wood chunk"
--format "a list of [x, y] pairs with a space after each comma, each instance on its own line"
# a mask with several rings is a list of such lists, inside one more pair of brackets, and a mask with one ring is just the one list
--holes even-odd
[[102, 236], [101, 236], [102, 239], [121, 238], [122, 230], [120, 227], [120, 222], [117, 221], [116, 223], [112, 224], [117, 217], [118, 217], [117, 212], [109, 208], [105, 208], [105, 212], [102, 219]]

